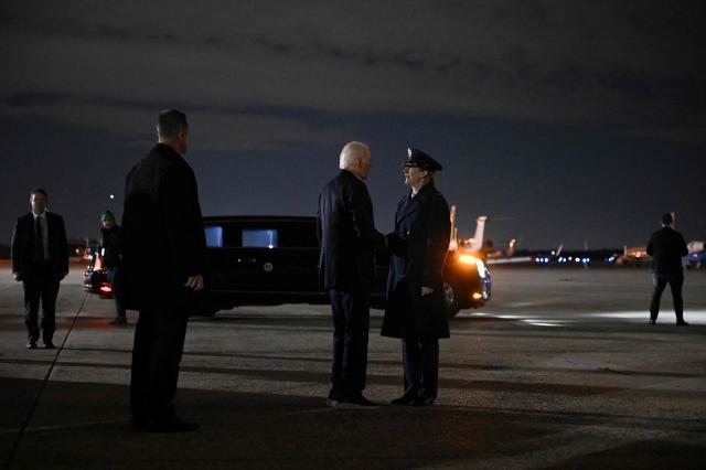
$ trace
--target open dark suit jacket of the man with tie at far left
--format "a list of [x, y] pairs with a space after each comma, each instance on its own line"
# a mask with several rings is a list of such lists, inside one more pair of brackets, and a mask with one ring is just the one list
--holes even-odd
[[[68, 273], [68, 244], [64, 218], [46, 212], [46, 229], [49, 232], [49, 253], [51, 269], [60, 276]], [[31, 277], [35, 270], [34, 260], [34, 215], [30, 212], [18, 218], [12, 234], [12, 273], [23, 278]]]

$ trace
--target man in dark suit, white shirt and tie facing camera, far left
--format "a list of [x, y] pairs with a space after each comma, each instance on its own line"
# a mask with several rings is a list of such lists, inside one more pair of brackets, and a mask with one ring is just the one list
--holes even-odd
[[12, 234], [12, 274], [24, 287], [24, 324], [28, 349], [36, 349], [40, 338], [38, 316], [42, 301], [42, 340], [54, 349], [58, 284], [68, 274], [68, 246], [61, 215], [46, 211], [43, 189], [30, 192], [32, 212], [18, 218]]

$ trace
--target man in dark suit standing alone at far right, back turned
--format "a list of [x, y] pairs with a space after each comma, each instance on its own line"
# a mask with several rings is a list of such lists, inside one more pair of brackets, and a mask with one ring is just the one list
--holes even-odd
[[682, 286], [684, 285], [684, 267], [682, 257], [688, 255], [686, 242], [681, 233], [672, 226], [674, 217], [666, 213], [662, 215], [662, 229], [656, 231], [650, 237], [648, 244], [648, 255], [652, 256], [652, 302], [650, 305], [650, 322], [654, 325], [660, 313], [660, 300], [666, 285], [672, 289], [674, 299], [674, 313], [676, 313], [676, 324], [688, 325], [684, 321], [684, 299], [682, 299]]

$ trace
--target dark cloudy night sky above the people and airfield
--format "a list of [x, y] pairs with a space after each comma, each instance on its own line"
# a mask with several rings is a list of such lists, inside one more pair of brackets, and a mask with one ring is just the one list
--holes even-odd
[[[121, 215], [160, 109], [190, 120], [202, 210], [312, 215], [368, 143], [381, 231], [409, 145], [443, 165], [461, 236], [706, 238], [703, 1], [3, 1], [0, 244], [50, 193], [69, 237]], [[115, 200], [109, 195], [115, 194]]]

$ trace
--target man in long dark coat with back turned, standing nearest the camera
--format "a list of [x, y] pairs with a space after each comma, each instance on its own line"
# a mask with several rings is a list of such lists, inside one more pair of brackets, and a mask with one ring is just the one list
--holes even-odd
[[[186, 152], [186, 116], [160, 113], [159, 143], [129, 172], [122, 212], [126, 307], [139, 310], [130, 405], [136, 428], [189, 431], [174, 413], [186, 322], [204, 288], [205, 235]], [[159, 269], [151, 269], [158, 266]]]

